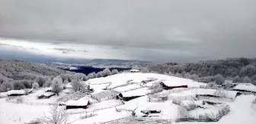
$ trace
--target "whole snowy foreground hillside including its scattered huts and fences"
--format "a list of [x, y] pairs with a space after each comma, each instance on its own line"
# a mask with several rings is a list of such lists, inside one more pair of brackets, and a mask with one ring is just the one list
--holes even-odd
[[[49, 116], [50, 107], [48, 105], [54, 104], [56, 101], [62, 104], [61, 108], [82, 105], [86, 104], [85, 101], [90, 101], [91, 104], [88, 104], [86, 109], [69, 108], [65, 110], [69, 115], [68, 122], [72, 124], [119, 124], [122, 122], [126, 124], [142, 122], [165, 124], [203, 121], [201, 123], [204, 123], [206, 121], [204, 117], [210, 121], [218, 121], [212, 123], [219, 124], [240, 124], [241, 122], [253, 124], [256, 121], [254, 118], [256, 111], [252, 109], [254, 105], [251, 104], [251, 101], [255, 99], [254, 95], [237, 96], [237, 91], [225, 91], [226, 97], [216, 98], [214, 95], [218, 90], [200, 88], [206, 84], [191, 79], [156, 73], [119, 73], [113, 76], [88, 79], [82, 83], [90, 85], [94, 92], [89, 95], [79, 94], [72, 91], [72, 88], [67, 88], [60, 92], [59, 96], [38, 99], [37, 96], [44, 94], [46, 90], [40, 88], [34, 90], [30, 95], [21, 96], [23, 99], [21, 103], [18, 102], [20, 97], [0, 98], [0, 109], [2, 110], [0, 118], [5, 123], [21, 124], [35, 120], [43, 114]], [[162, 83], [170, 87], [187, 85], [187, 88], [162, 89], [160, 86]], [[2, 95], [4, 94], [2, 93]], [[202, 97], [198, 97], [198, 95], [202, 95]], [[213, 96], [203, 97], [204, 95]], [[166, 99], [162, 99], [163, 97]], [[206, 102], [210, 104], [206, 104]], [[10, 111], [9, 107], [14, 109]], [[223, 114], [216, 119], [220, 113]], [[183, 120], [187, 118], [195, 119], [196, 122]]]

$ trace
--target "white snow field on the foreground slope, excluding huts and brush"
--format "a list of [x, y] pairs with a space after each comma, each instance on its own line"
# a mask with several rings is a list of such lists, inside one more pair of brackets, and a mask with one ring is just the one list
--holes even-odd
[[[153, 81], [145, 82], [152, 79]], [[167, 101], [149, 101], [148, 93], [152, 91], [149, 87], [156, 85], [159, 82], [165, 82], [165, 84], [175, 85], [188, 85], [188, 88], [179, 88], [162, 91], [158, 95], [168, 95]], [[200, 85], [206, 85], [201, 82], [195, 82], [190, 79], [182, 79], [174, 76], [165, 76], [155, 73], [120, 73], [113, 76], [107, 76], [104, 78], [89, 79], [86, 84], [91, 84], [91, 88], [94, 88], [93, 95], [100, 94], [105, 91], [104, 88], [111, 89], [113, 91], [121, 92], [124, 96], [133, 95], [145, 95], [140, 98], [135, 98], [130, 101], [120, 101], [113, 97], [108, 97], [102, 101], [96, 101], [90, 97], [90, 95], [84, 96], [78, 99], [78, 101], [92, 101], [92, 104], [88, 105], [87, 109], [69, 109], [66, 110], [69, 113], [69, 122], [72, 124], [93, 124], [94, 122], [107, 122], [114, 119], [120, 119], [132, 115], [132, 111], [136, 113], [136, 116], [144, 116], [142, 111], [144, 110], [158, 110], [160, 113], [150, 114], [152, 119], [177, 119], [179, 115], [178, 104], [173, 104], [173, 98], [193, 97], [196, 95], [213, 95], [215, 89], [200, 88]], [[69, 89], [62, 91], [59, 96], [53, 96], [49, 99], [38, 100], [37, 95], [44, 93], [44, 89], [34, 91], [30, 95], [23, 96], [24, 101], [30, 101], [32, 103], [55, 103], [59, 98], [63, 98], [69, 95]], [[256, 122], [256, 109], [251, 105], [251, 101], [256, 98], [254, 95], [240, 95], [235, 96], [235, 91], [226, 91], [226, 98], [234, 98], [234, 101], [219, 101], [228, 104], [230, 112], [219, 119], [218, 122], [210, 122], [217, 124], [254, 124]], [[4, 93], [5, 94], [5, 93]], [[70, 97], [69, 97], [70, 98]], [[190, 101], [181, 101], [184, 104]], [[78, 102], [82, 104], [81, 102]], [[195, 103], [201, 104], [202, 100]], [[72, 101], [75, 104], [75, 101]], [[203, 108], [197, 108], [190, 110], [190, 115], [195, 116], [197, 114], [204, 113], [218, 113], [218, 106], [205, 105]], [[24, 124], [30, 122], [30, 120], [36, 119], [43, 114], [49, 115], [50, 107], [47, 105], [33, 105], [33, 104], [13, 104], [6, 101], [6, 98], [0, 98], [0, 124]], [[82, 116], [94, 114], [95, 116], [82, 119]], [[205, 123], [205, 122], [179, 122], [179, 123]]]

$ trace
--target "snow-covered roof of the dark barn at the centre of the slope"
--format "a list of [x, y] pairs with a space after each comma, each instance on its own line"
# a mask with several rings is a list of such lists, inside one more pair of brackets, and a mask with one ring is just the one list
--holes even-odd
[[122, 92], [122, 95], [123, 97], [143, 96], [147, 95], [149, 92], [150, 90], [148, 90], [148, 88], [138, 88], [133, 91]]

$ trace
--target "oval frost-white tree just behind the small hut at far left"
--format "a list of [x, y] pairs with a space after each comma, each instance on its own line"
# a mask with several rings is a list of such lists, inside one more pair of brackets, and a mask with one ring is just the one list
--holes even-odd
[[52, 91], [59, 95], [59, 92], [63, 89], [63, 82], [60, 76], [56, 76], [52, 82]]

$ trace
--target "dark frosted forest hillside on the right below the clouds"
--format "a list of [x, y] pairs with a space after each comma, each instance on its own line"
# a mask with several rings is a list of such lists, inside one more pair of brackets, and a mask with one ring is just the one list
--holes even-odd
[[[254, 82], [256, 84], [256, 58], [241, 57], [228, 58], [226, 60], [206, 60], [187, 64], [158, 64], [149, 67], [149, 70], [157, 73], [178, 73], [181, 76], [189, 73], [199, 77], [208, 76], [208, 78], [220, 75], [229, 80], [233, 80], [236, 76], [235, 82], [243, 82], [243, 79], [245, 79], [247, 82]], [[248, 78], [250, 81], [248, 81]]]

